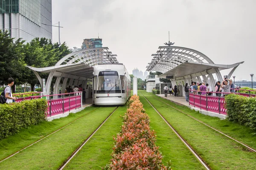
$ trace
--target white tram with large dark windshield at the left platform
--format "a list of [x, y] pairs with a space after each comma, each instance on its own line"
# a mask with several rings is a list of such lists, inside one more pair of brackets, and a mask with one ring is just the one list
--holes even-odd
[[124, 105], [131, 96], [131, 78], [122, 64], [95, 65], [93, 102], [95, 105]]

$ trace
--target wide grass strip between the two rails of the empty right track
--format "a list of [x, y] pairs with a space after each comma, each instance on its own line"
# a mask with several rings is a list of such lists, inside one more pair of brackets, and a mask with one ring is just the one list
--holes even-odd
[[255, 169], [256, 153], [152, 96], [146, 97], [212, 169]]

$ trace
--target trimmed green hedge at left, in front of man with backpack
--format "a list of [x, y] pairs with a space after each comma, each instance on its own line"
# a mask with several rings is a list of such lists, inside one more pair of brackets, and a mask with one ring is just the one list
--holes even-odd
[[46, 120], [46, 99], [0, 105], [0, 140]]

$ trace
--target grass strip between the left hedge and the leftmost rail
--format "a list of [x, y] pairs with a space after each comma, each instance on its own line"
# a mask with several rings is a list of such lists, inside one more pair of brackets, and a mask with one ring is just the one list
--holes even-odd
[[20, 130], [20, 133], [9, 136], [6, 139], [0, 140], [0, 160], [21, 150], [22, 148], [32, 144], [48, 134], [58, 130], [59, 128], [69, 124], [81, 116], [95, 110], [96, 107], [88, 107], [76, 114], [69, 114], [61, 119], [54, 119], [51, 122], [42, 122], [38, 125], [32, 125], [28, 129]]

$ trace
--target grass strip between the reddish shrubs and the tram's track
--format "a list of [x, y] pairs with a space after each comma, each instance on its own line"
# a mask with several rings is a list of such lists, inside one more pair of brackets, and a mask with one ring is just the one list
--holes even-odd
[[65, 170], [99, 170], [112, 158], [113, 136], [120, 132], [122, 118], [126, 112], [126, 105], [120, 106], [108, 118], [107, 122], [93, 135], [93, 137], [74, 156]]

